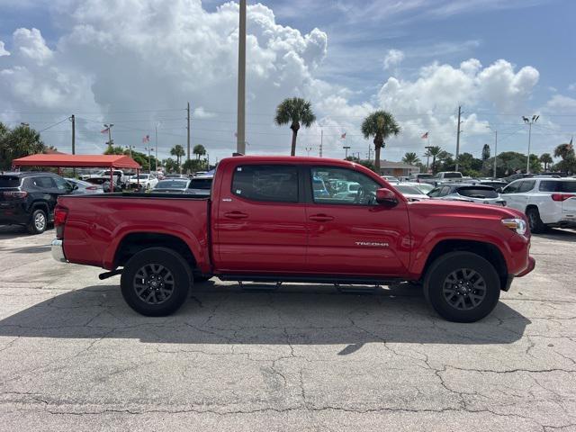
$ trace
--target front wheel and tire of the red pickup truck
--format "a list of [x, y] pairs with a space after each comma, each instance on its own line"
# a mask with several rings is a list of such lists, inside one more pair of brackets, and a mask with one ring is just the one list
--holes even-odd
[[472, 252], [451, 252], [438, 257], [428, 268], [424, 295], [445, 320], [475, 322], [498, 304], [500, 277], [483, 257]]

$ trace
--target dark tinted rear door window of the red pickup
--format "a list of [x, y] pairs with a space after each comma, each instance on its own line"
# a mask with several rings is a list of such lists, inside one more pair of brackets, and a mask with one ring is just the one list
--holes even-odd
[[266, 202], [298, 202], [298, 167], [285, 165], [237, 166], [232, 193]]

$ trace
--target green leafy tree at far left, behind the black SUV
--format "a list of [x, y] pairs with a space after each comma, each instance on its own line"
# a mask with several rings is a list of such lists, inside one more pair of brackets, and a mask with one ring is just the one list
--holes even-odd
[[0, 169], [9, 169], [18, 157], [35, 155], [45, 149], [36, 130], [25, 125], [11, 130], [0, 123]]

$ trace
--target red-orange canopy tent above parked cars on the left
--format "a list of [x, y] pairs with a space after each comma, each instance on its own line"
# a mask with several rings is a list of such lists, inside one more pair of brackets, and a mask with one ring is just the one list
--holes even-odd
[[136, 169], [138, 176], [141, 166], [125, 155], [31, 155], [12, 161], [14, 166], [55, 166], [58, 168], [110, 168], [110, 190], [114, 190], [112, 170], [114, 168]]

